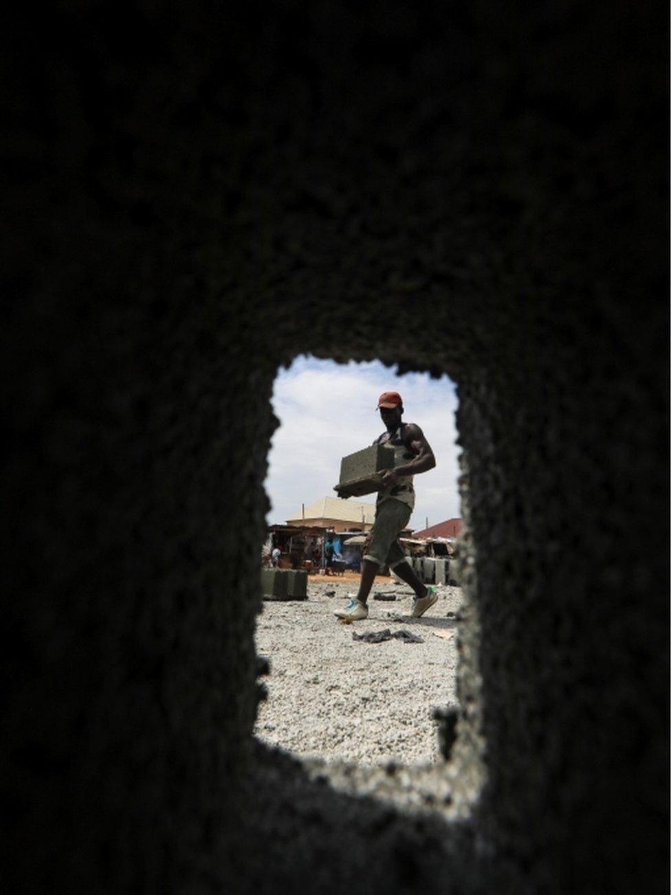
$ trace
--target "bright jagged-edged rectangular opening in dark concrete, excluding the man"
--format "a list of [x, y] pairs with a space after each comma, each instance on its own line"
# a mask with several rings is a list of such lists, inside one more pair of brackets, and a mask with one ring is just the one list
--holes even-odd
[[[358, 590], [360, 541], [373, 524], [376, 494], [340, 500], [333, 486], [341, 457], [385, 430], [376, 405], [389, 390], [403, 397], [403, 421], [421, 427], [436, 456], [434, 469], [415, 476], [415, 507], [401, 544], [423, 583], [435, 584], [438, 575], [439, 599], [413, 618], [411, 587], [384, 569], [373, 582], [368, 617], [346, 625], [334, 611]], [[434, 713], [457, 711], [456, 409], [456, 388], [446, 376], [398, 377], [380, 362], [341, 365], [303, 356], [278, 374], [273, 410], [280, 425], [265, 482], [272, 510], [263, 561], [270, 565], [277, 548], [279, 567], [306, 571], [307, 599], [264, 600], [256, 621], [256, 652], [272, 668], [256, 737], [314, 771], [348, 765], [349, 784], [359, 791], [370, 776], [365, 769], [390, 776], [413, 767], [415, 777], [424, 773], [427, 803], [437, 797], [446, 804], [452, 799], [436, 777], [444, 758]], [[426, 540], [427, 528], [435, 540]], [[329, 541], [336, 557], [330, 569]], [[382, 639], [385, 632], [389, 639]]]

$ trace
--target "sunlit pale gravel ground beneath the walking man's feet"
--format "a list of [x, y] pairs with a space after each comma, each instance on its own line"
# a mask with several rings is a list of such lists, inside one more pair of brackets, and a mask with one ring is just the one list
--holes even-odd
[[[328, 592], [335, 592], [331, 596]], [[268, 699], [259, 706], [256, 736], [304, 759], [359, 766], [440, 760], [435, 706], [456, 705], [458, 587], [439, 587], [423, 618], [410, 618], [412, 591], [378, 579], [369, 616], [344, 625], [333, 616], [355, 581], [318, 579], [306, 601], [264, 601], [256, 623], [256, 652], [267, 656]], [[377, 592], [395, 601], [374, 600]], [[423, 642], [379, 644], [357, 635], [389, 628]]]

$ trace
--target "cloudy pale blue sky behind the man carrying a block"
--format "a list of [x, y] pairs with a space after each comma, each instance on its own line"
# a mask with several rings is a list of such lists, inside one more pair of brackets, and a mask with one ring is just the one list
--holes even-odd
[[[269, 524], [285, 522], [302, 503], [334, 497], [340, 459], [367, 447], [384, 431], [375, 410], [383, 391], [403, 397], [405, 422], [416, 422], [433, 448], [437, 465], [415, 478], [415, 512], [410, 525], [424, 528], [459, 516], [457, 395], [447, 376], [397, 376], [379, 361], [319, 361], [302, 355], [281, 369], [273, 389], [273, 410], [281, 421], [268, 457], [265, 490]], [[359, 498], [374, 503], [375, 495]]]

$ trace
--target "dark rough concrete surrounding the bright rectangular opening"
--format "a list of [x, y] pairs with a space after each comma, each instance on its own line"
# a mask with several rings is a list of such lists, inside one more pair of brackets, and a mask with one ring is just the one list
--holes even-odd
[[[14, 886], [666, 882], [659, 19], [60, 3], [21, 23]], [[269, 397], [304, 352], [457, 381], [470, 822], [385, 814], [250, 748]]]

